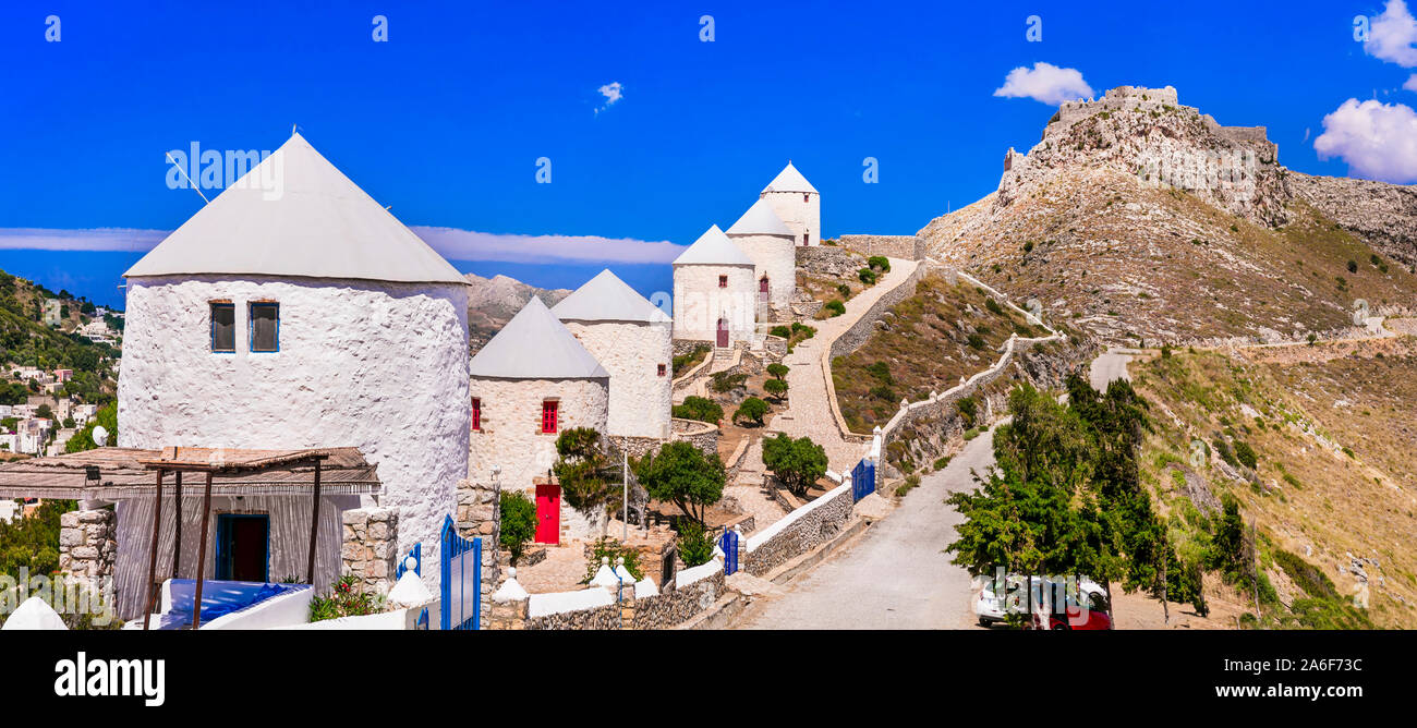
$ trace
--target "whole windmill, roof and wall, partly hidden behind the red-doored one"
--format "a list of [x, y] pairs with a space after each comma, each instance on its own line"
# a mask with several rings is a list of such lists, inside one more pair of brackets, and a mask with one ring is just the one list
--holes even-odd
[[606, 433], [669, 439], [673, 320], [609, 271], [557, 303], [554, 313], [611, 375]]

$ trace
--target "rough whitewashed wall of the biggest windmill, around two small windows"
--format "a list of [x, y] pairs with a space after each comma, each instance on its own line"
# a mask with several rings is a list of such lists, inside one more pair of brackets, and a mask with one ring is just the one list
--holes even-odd
[[[235, 303], [234, 354], [210, 351], [214, 299]], [[247, 350], [251, 300], [281, 303], [281, 351]], [[468, 470], [466, 309], [459, 285], [129, 279], [118, 445], [360, 448], [378, 463], [381, 504], [400, 508], [400, 550], [422, 541], [432, 588]], [[120, 544], [133, 537], [120, 525]]]

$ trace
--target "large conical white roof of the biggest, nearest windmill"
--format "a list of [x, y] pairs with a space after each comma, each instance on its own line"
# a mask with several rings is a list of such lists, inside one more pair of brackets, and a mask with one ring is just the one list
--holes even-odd
[[123, 275], [186, 273], [465, 283], [458, 269], [300, 135]]

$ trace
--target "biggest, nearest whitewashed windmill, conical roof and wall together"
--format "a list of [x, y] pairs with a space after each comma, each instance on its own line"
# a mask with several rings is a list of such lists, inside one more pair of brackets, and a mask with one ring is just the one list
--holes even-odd
[[[309, 460], [323, 450], [307, 449], [357, 448], [377, 465], [380, 506], [398, 514], [398, 548], [421, 542], [422, 576], [436, 584], [439, 527], [468, 469], [465, 282], [302, 136], [244, 180], [276, 177], [281, 194], [230, 186], [125, 273], [118, 445], [205, 448], [218, 463], [228, 449]], [[180, 569], [169, 504], [157, 574], [197, 572], [204, 530], [207, 575], [324, 588], [340, 572], [341, 511], [373, 504], [354, 494], [370, 493], [363, 486], [319, 499], [306, 574], [315, 500], [238, 493], [213, 499], [204, 528], [203, 499], [183, 501]], [[149, 572], [150, 491], [116, 511], [119, 615], [133, 618]]]

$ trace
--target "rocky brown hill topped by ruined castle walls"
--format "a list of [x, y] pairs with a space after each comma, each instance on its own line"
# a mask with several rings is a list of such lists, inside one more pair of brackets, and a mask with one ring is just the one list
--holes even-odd
[[1291, 173], [1264, 127], [1175, 88], [1068, 102], [999, 188], [935, 218], [930, 254], [1114, 341], [1304, 339], [1411, 306], [1410, 187]]

